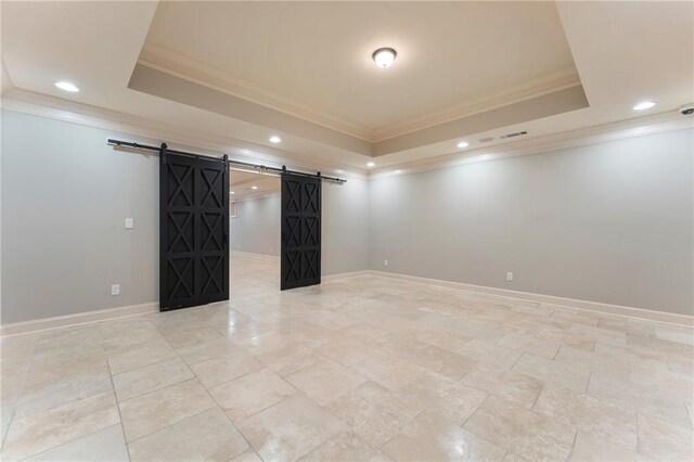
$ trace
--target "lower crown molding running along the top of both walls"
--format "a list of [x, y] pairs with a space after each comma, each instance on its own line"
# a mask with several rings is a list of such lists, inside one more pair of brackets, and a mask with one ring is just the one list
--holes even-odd
[[[314, 159], [306, 158], [294, 153], [281, 150], [270, 150], [266, 146], [206, 133], [183, 133], [180, 128], [162, 123], [131, 116], [115, 111], [103, 110], [86, 104], [69, 102], [54, 97], [42, 95], [30, 91], [13, 89], [0, 99], [2, 108], [34, 114], [59, 120], [72, 121], [132, 136], [150, 139], [165, 139], [169, 144], [179, 143], [183, 146], [193, 146], [204, 151], [227, 152], [230, 158], [267, 165], [286, 165], [287, 168], [298, 170], [335, 171], [343, 170], [339, 176], [345, 178], [384, 178], [394, 175], [404, 175], [417, 171], [436, 170], [475, 162], [487, 162], [522, 155], [547, 153], [550, 151], [594, 144], [599, 142], [614, 141], [625, 138], [640, 137], [665, 131], [694, 128], [694, 116], [682, 116], [678, 111], [669, 111], [652, 116], [631, 118], [627, 120], [597, 125], [578, 130], [564, 131], [544, 137], [527, 140], [518, 140], [488, 149], [478, 149], [462, 153], [423, 161], [400, 163], [387, 168], [355, 170], [351, 166], [338, 164], [320, 164]], [[105, 142], [105, 140], [104, 140]], [[252, 150], [254, 155], [230, 153], [229, 147]], [[488, 155], [488, 158], [480, 158]]]

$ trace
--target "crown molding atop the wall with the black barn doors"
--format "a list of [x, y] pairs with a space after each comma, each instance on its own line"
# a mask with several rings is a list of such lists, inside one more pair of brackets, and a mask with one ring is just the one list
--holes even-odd
[[76, 103], [17, 88], [2, 94], [2, 98], [0, 98], [0, 106], [8, 111], [33, 114], [105, 130], [114, 130], [136, 137], [166, 140], [171, 147], [178, 144], [180, 149], [193, 147], [215, 154], [227, 153], [230, 158], [234, 161], [248, 163], [261, 162], [268, 166], [279, 167], [286, 165], [287, 168], [291, 169], [318, 170], [325, 174], [340, 169], [343, 170], [340, 174], [343, 177], [367, 178], [364, 175], [365, 169], [356, 169], [350, 165], [317, 163], [312, 158], [290, 151], [272, 149], [230, 137], [192, 131], [183, 127], [176, 127], [144, 117]]

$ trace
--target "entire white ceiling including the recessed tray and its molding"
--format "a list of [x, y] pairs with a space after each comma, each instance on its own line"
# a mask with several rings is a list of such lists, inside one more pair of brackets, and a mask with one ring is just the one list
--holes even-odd
[[[335, 171], [449, 156], [460, 139], [474, 153], [506, 143], [484, 137], [539, 139], [694, 101], [689, 1], [158, 7], [0, 3], [3, 103], [30, 100], [64, 118], [137, 116], [231, 153]], [[400, 52], [388, 69], [370, 61], [382, 44]], [[136, 78], [147, 73], [149, 87]], [[81, 91], [61, 92], [56, 80]], [[633, 112], [645, 99], [657, 106]], [[275, 133], [280, 145], [268, 141]]]

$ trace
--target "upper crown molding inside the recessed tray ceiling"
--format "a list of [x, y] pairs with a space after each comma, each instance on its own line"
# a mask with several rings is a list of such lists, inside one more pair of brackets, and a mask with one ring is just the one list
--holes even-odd
[[398, 124], [371, 128], [271, 93], [219, 68], [152, 42], [145, 42], [138, 63], [372, 143], [581, 85], [576, 66], [571, 65], [490, 92], [484, 98], [465, 101]]

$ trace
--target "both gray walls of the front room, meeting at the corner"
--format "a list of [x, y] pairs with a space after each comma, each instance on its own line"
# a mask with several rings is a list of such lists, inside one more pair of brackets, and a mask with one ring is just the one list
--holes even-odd
[[[155, 301], [157, 158], [105, 144], [142, 138], [7, 111], [2, 121], [2, 323]], [[679, 130], [324, 182], [322, 272], [370, 267], [691, 315], [693, 157], [694, 130]]]

